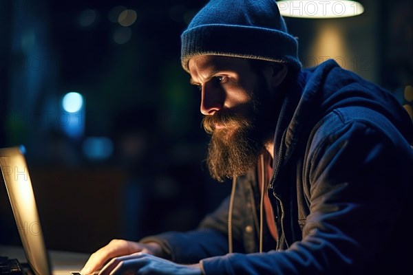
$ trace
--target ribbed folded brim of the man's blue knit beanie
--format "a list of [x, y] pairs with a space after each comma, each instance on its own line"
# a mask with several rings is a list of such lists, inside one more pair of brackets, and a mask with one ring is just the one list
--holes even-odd
[[288, 63], [301, 69], [297, 40], [278, 30], [243, 25], [200, 25], [182, 33], [181, 62], [189, 72], [194, 56], [218, 55]]

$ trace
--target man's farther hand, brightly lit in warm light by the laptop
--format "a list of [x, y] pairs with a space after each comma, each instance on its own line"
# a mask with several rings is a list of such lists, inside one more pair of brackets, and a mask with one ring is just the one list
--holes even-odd
[[93, 274], [100, 267], [103, 267], [108, 260], [136, 252], [162, 256], [162, 248], [158, 243], [136, 243], [114, 239], [89, 257], [85, 267], [81, 270], [81, 274]]

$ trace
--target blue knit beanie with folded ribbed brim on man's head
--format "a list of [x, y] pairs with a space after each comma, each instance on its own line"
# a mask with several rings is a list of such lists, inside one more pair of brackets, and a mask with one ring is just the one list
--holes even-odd
[[182, 33], [181, 62], [199, 55], [287, 63], [301, 69], [297, 39], [288, 34], [275, 0], [211, 0]]

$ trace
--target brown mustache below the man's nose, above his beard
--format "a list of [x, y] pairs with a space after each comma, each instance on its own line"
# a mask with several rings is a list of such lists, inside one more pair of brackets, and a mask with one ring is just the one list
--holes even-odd
[[212, 135], [215, 130], [215, 125], [217, 124], [224, 127], [242, 126], [243, 129], [248, 129], [252, 126], [252, 122], [248, 118], [227, 111], [218, 111], [213, 115], [205, 115], [204, 118], [202, 118], [202, 127], [210, 135]]

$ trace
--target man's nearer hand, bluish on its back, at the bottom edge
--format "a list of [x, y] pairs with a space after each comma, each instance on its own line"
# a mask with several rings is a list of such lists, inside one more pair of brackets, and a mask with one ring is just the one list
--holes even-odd
[[200, 265], [179, 265], [156, 256], [138, 252], [112, 259], [99, 275], [202, 275]]

